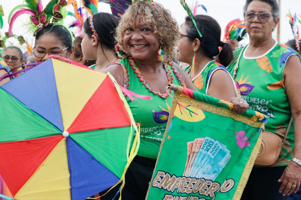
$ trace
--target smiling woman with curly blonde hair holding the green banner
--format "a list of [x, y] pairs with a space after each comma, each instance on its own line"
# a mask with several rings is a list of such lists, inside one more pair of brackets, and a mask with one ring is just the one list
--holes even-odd
[[178, 24], [170, 11], [154, 2], [129, 6], [116, 29], [116, 50], [123, 59], [103, 72], [110, 72], [125, 88], [152, 97], [134, 102], [126, 97], [135, 121], [141, 124], [141, 141], [126, 172], [122, 199], [145, 199], [172, 102], [167, 84], [196, 90], [182, 68], [172, 62], [178, 39]]

